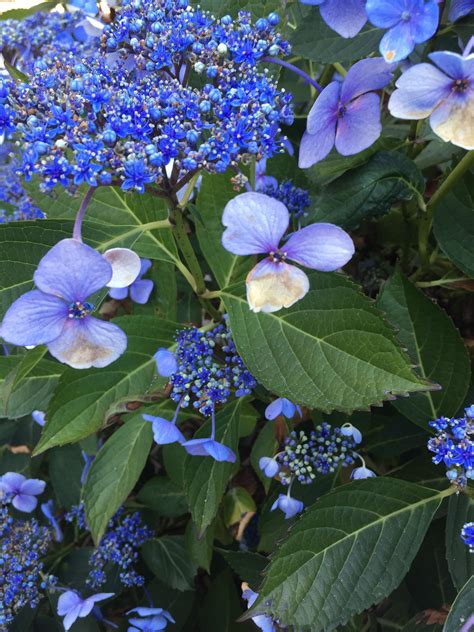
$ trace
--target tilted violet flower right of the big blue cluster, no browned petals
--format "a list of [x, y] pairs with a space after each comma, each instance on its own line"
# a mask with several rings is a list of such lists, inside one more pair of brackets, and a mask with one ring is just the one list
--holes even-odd
[[301, 139], [299, 166], [307, 169], [336, 146], [343, 156], [370, 147], [382, 131], [381, 90], [392, 79], [391, 66], [381, 57], [354, 64], [342, 82], [332, 81], [316, 99]]

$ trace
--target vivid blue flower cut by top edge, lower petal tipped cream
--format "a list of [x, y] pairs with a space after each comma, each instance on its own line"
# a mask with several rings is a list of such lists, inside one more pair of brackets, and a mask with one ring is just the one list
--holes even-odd
[[389, 63], [408, 57], [438, 28], [437, 0], [367, 0], [365, 10], [374, 26], [389, 29], [380, 42], [380, 52]]

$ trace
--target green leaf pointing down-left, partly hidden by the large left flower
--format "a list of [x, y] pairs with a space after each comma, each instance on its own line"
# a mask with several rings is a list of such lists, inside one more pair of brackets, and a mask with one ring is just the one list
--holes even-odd
[[99, 430], [119, 405], [127, 412], [127, 402], [149, 397], [163, 384], [155, 378], [153, 353], [173, 343], [176, 325], [154, 316], [124, 316], [114, 323], [128, 335], [127, 351], [104, 369], [67, 369], [63, 373], [37, 454], [87, 437]]

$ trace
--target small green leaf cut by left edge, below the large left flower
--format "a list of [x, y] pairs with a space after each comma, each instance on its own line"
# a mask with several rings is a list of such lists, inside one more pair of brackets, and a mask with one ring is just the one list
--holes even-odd
[[[51, 360], [39, 360], [34, 366], [28, 367], [30, 360], [26, 361], [26, 358], [30, 353], [33, 353], [36, 360], [39, 352], [32, 351], [24, 356], [0, 357], [0, 407], [3, 415], [9, 419], [19, 419], [29, 415], [33, 410], [46, 410], [64, 372], [63, 365]], [[28, 373], [12, 390], [11, 384], [15, 382], [14, 372], [18, 371], [16, 375], [20, 376], [27, 368]]]

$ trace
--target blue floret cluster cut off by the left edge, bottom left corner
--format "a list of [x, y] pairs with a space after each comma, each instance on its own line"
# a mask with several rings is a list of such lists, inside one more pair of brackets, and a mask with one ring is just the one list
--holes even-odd
[[41, 590], [55, 579], [43, 579], [43, 562], [51, 532], [35, 519], [14, 520], [8, 513], [10, 499], [0, 501], [0, 629], [6, 629], [25, 606], [36, 608]]

